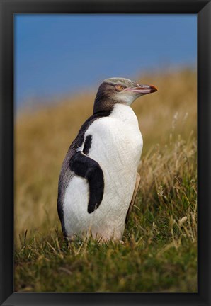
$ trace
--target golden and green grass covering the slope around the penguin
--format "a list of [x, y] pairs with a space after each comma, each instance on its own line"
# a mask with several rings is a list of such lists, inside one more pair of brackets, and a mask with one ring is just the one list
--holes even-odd
[[144, 150], [124, 244], [67, 245], [57, 217], [62, 159], [91, 114], [93, 94], [17, 116], [16, 291], [197, 291], [196, 74], [183, 69], [144, 82], [159, 92], [133, 107]]

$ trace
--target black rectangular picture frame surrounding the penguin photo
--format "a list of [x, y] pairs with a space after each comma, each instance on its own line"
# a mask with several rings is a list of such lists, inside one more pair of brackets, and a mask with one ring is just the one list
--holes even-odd
[[[211, 2], [207, 0], [0, 0], [1, 305], [211, 305]], [[198, 293], [13, 293], [13, 14], [198, 14]]]

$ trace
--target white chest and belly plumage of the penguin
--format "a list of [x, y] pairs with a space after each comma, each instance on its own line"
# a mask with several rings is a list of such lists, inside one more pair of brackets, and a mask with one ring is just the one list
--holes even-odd
[[116, 104], [108, 117], [100, 118], [89, 126], [84, 140], [88, 135], [91, 135], [88, 156], [103, 170], [103, 200], [89, 214], [88, 183], [79, 177], [72, 179], [64, 199], [65, 226], [70, 234], [91, 229], [93, 236], [121, 239], [142, 153], [143, 142], [137, 117], [130, 106]]

